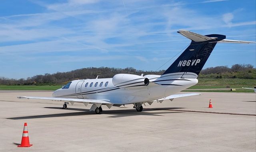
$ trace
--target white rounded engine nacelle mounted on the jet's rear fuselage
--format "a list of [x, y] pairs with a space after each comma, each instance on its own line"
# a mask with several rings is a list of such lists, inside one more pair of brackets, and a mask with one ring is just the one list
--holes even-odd
[[149, 80], [143, 76], [134, 74], [116, 74], [112, 82], [118, 88], [136, 89], [148, 86]]

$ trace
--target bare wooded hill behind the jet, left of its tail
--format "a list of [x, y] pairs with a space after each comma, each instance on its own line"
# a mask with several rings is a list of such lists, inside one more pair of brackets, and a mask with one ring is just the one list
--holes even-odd
[[[144, 71], [144, 70], [136, 70], [135, 68], [108, 68], [108, 67], [100, 67], [100, 68], [81, 68], [77, 70], [72, 70], [70, 72], [57, 72], [54, 74], [44, 74], [44, 75], [36, 75], [33, 77], [28, 77], [27, 79], [9, 79], [9, 78], [1, 78], [0, 77], [0, 85], [53, 85], [53, 84], [66, 84], [71, 80], [78, 79], [94, 79], [96, 76], [100, 75], [98, 78], [112, 78], [115, 74], [118, 73], [126, 73], [126, 74], [158, 74], [161, 75], [164, 73], [164, 70], [160, 71]], [[36, 82], [36, 83], [35, 83]]]

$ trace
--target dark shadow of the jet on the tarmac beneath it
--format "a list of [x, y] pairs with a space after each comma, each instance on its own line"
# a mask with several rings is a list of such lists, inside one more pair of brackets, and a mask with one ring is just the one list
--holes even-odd
[[[60, 107], [44, 107], [44, 108], [61, 109]], [[145, 109], [143, 109], [143, 112], [137, 112], [135, 109], [104, 110], [101, 115], [107, 114], [107, 115], [112, 115], [112, 116], [109, 116], [111, 118], [117, 118], [117, 117], [128, 117], [128, 116], [136, 116], [136, 115], [163, 116], [161, 114], [182, 113], [179, 111], [157, 112], [160, 110], [173, 110], [173, 109], [182, 109], [182, 107], [154, 108], [154, 109], [146, 109], [145, 108]], [[82, 111], [82, 112], [58, 113], [58, 114], [50, 114], [50, 115], [34, 115], [34, 116], [13, 117], [13, 118], [6, 118], [6, 119], [20, 120], [20, 119], [36, 119], [36, 118], [51, 118], [51, 117], [69, 117], [69, 116], [79, 116], [79, 115], [96, 115], [94, 113], [94, 111], [89, 111], [89, 109], [68, 108], [68, 109], [63, 109], [63, 110], [74, 110], [74, 111]]]

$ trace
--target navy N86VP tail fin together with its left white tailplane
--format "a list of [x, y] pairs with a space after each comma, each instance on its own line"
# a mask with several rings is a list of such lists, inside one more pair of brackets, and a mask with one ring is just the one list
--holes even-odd
[[226, 36], [218, 34], [200, 35], [185, 30], [180, 30], [178, 33], [192, 41], [163, 75], [177, 73], [179, 78], [196, 78], [217, 42], [225, 39]]

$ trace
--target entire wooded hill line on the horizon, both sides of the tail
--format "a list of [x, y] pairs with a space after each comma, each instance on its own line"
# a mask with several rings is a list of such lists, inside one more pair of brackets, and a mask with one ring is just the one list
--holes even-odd
[[[54, 74], [44, 74], [28, 77], [27, 79], [9, 79], [0, 77], [0, 85], [54, 85], [66, 84], [70, 80], [92, 79], [100, 75], [99, 78], [112, 78], [115, 74], [126, 73], [140, 75], [158, 74], [161, 75], [165, 70], [144, 71], [134, 68], [81, 68], [70, 72], [57, 72]], [[256, 79], [256, 69], [251, 64], [234, 64], [231, 68], [228, 66], [216, 66], [202, 70], [198, 78], [243, 78]]]

